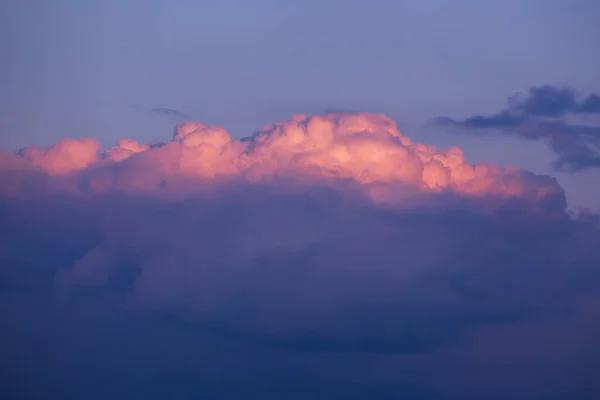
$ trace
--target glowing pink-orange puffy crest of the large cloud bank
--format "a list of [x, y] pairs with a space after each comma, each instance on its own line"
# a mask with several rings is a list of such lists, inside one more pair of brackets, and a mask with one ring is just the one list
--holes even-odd
[[[166, 144], [124, 139], [99, 153], [94, 139], [65, 139], [23, 149], [26, 166], [50, 175], [79, 174], [94, 191], [156, 191], [190, 180], [266, 181], [282, 177], [321, 182], [352, 181], [376, 200], [393, 200], [390, 185], [421, 192], [543, 198], [560, 192], [550, 178], [492, 164], [469, 164], [461, 149], [439, 151], [414, 143], [384, 115], [296, 115], [252, 137], [232, 140], [220, 127], [180, 123]], [[8, 156], [4, 156], [5, 159]], [[11, 163], [4, 161], [2, 168]], [[388, 189], [382, 189], [388, 186]]]

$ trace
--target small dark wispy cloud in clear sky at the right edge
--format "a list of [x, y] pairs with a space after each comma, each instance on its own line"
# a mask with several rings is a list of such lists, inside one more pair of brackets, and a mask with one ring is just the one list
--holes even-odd
[[559, 156], [554, 163], [558, 170], [600, 166], [600, 96], [581, 96], [570, 88], [545, 85], [515, 95], [508, 103], [493, 115], [464, 120], [440, 117], [434, 122], [469, 131], [500, 129], [524, 139], [545, 140]]

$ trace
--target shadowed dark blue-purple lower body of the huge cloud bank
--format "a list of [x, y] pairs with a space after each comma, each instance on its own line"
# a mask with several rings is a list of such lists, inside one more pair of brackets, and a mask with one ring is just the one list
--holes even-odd
[[598, 216], [286, 187], [0, 198], [3, 397], [599, 393]]

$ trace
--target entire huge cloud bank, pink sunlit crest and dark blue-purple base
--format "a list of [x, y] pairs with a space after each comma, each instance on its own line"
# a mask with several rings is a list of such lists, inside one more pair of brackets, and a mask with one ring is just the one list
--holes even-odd
[[598, 217], [568, 215], [552, 178], [469, 164], [372, 114], [67, 143], [0, 164], [15, 392], [598, 393]]

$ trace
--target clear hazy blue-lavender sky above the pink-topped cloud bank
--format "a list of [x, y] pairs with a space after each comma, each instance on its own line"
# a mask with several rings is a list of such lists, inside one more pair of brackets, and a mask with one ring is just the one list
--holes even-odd
[[[470, 160], [550, 173], [542, 143], [432, 133], [532, 85], [600, 91], [594, 0], [27, 0], [0, 5], [0, 148], [169, 138], [178, 117], [247, 136], [294, 113], [385, 113]], [[558, 174], [598, 206], [597, 172]], [[588, 189], [583, 190], [582, 187]]]

